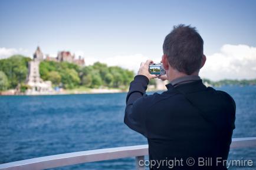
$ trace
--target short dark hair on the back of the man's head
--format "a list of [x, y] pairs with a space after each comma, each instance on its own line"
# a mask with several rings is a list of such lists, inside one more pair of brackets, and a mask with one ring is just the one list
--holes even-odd
[[201, 67], [204, 40], [195, 27], [183, 24], [173, 26], [163, 42], [163, 54], [167, 55], [170, 66], [191, 75]]

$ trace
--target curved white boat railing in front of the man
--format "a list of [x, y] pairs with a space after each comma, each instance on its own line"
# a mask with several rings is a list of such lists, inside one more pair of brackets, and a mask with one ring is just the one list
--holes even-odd
[[[255, 147], [256, 137], [253, 138], [233, 138], [231, 148]], [[40, 158], [26, 159], [22, 161], [0, 164], [0, 169], [22, 170], [22, 169], [48, 169], [60, 166], [81, 164], [86, 162], [104, 161], [127, 157], [136, 158], [136, 169], [145, 169], [139, 166], [139, 161], [148, 155], [148, 145], [124, 146], [119, 148], [96, 149], [91, 151], [71, 152], [67, 154], [43, 156]]]

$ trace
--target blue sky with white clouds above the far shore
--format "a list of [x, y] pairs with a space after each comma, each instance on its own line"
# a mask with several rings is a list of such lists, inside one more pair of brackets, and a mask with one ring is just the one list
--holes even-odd
[[70, 51], [86, 65], [160, 62], [174, 25], [204, 39], [203, 78], [256, 78], [256, 1], [0, 1], [0, 58]]

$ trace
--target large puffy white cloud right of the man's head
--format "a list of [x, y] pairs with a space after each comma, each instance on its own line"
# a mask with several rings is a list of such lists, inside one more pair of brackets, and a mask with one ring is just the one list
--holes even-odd
[[221, 51], [206, 55], [200, 75], [212, 80], [256, 78], [256, 47], [248, 45], [222, 46]]

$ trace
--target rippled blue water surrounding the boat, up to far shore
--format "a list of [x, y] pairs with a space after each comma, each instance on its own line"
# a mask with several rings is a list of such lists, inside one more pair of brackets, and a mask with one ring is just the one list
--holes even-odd
[[[256, 136], [256, 87], [219, 88], [237, 104], [234, 138]], [[123, 124], [126, 94], [0, 96], [0, 164], [67, 152], [147, 144]], [[229, 159], [252, 159], [255, 148], [231, 149]], [[55, 169], [134, 169], [134, 158]]]

